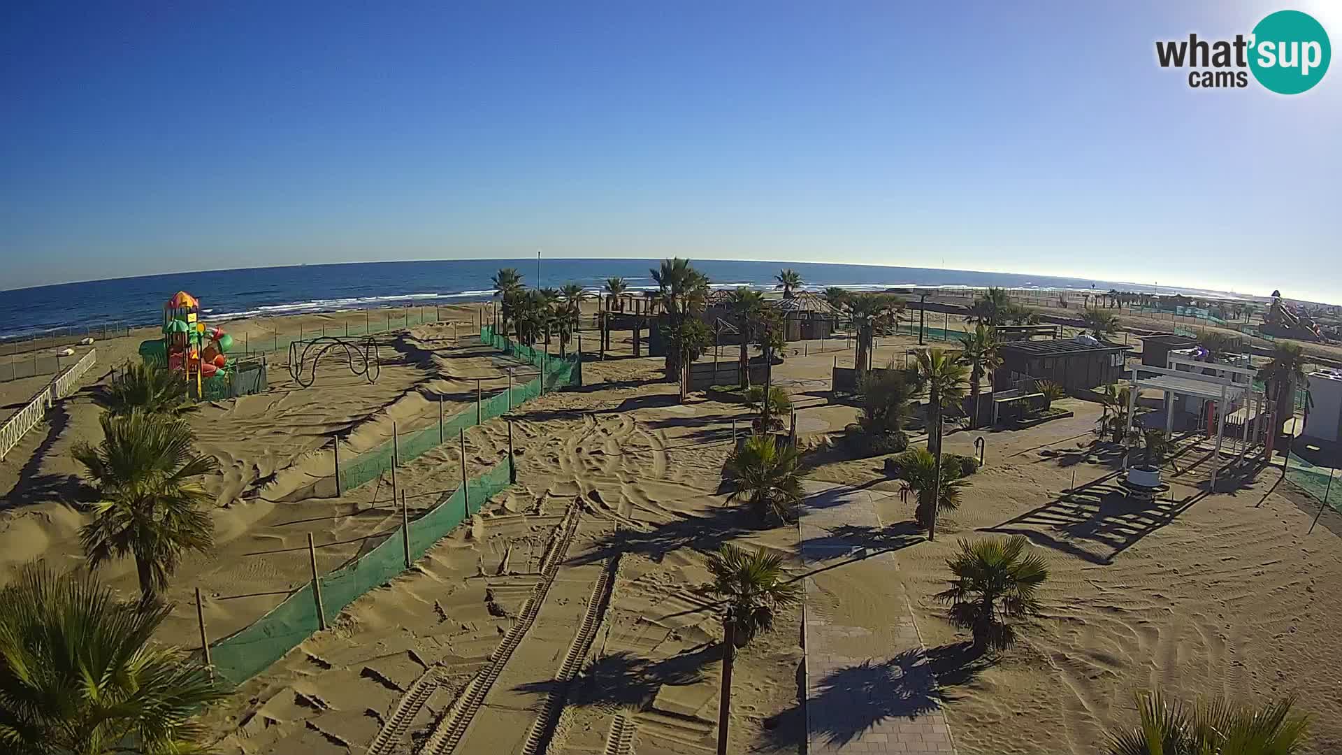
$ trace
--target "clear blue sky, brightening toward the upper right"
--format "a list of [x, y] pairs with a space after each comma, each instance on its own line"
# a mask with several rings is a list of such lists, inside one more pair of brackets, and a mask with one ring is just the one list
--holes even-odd
[[1342, 63], [1194, 90], [1157, 39], [1342, 1], [17, 3], [0, 289], [660, 257], [1342, 301]]

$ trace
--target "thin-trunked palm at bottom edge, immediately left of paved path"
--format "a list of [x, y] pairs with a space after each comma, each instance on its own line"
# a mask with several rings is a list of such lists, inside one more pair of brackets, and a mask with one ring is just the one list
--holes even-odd
[[713, 583], [707, 592], [722, 602], [722, 693], [718, 700], [718, 755], [727, 754], [731, 719], [731, 668], [737, 648], [773, 627], [778, 611], [801, 602], [801, 583], [788, 578], [782, 556], [723, 545], [707, 559]]

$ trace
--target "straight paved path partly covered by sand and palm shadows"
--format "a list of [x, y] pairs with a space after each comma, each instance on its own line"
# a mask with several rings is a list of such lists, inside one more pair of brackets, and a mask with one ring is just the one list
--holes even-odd
[[801, 517], [801, 555], [813, 572], [804, 580], [812, 755], [954, 752], [890, 552], [910, 540], [883, 532], [876, 515], [886, 494], [831, 486], [808, 498]]

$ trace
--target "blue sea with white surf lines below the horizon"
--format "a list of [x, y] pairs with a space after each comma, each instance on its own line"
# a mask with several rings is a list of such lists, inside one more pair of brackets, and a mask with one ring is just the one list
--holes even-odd
[[[623, 277], [631, 289], [655, 289], [651, 269], [659, 259], [443, 259], [420, 262], [357, 262], [170, 273], [0, 290], [0, 339], [36, 337], [66, 329], [103, 324], [152, 325], [162, 318], [162, 302], [178, 290], [197, 297], [207, 321], [243, 317], [340, 312], [365, 308], [400, 308], [484, 301], [491, 297], [490, 277], [501, 267], [515, 267], [527, 286], [578, 283], [599, 289], [609, 277]], [[1001, 286], [1039, 290], [1119, 289], [1146, 293], [1232, 297], [1224, 292], [1178, 289], [1013, 273], [976, 273], [930, 267], [879, 265], [829, 265], [804, 262], [754, 262], [695, 259], [694, 266], [714, 286], [773, 287], [782, 267], [801, 274], [805, 287], [824, 290], [843, 286], [855, 290], [890, 287]]]

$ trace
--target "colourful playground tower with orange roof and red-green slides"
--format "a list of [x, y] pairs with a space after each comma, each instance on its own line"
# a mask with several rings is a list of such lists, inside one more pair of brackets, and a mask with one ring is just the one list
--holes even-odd
[[221, 399], [266, 390], [264, 361], [259, 363], [258, 380], [248, 380], [251, 390], [239, 384], [240, 371], [256, 371], [258, 363], [239, 364], [228, 356], [234, 337], [221, 328], [208, 328], [200, 320], [200, 300], [177, 292], [164, 304], [162, 339], [140, 344], [140, 357], [180, 372], [199, 399]]

